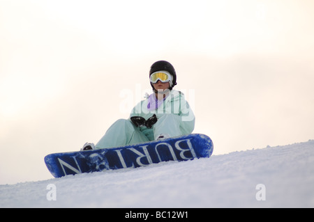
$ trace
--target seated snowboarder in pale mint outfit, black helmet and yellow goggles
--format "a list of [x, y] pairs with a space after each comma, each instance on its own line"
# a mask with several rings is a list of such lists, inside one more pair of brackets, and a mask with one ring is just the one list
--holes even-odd
[[151, 65], [149, 79], [154, 93], [133, 108], [128, 120], [114, 122], [96, 145], [85, 143], [81, 150], [117, 148], [193, 132], [194, 113], [184, 94], [172, 90], [177, 85], [174, 67], [157, 61]]

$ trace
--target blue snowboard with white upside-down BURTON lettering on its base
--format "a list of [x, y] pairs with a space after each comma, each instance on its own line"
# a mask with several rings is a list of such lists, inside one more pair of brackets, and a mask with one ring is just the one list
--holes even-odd
[[162, 161], [210, 157], [214, 145], [204, 134], [190, 134], [119, 148], [48, 154], [45, 164], [54, 177], [120, 168], [135, 168]]

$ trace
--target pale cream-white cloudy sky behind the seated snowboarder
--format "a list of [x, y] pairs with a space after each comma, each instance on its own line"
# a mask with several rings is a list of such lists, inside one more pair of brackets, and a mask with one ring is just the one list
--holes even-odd
[[98, 142], [177, 71], [214, 154], [314, 139], [311, 0], [0, 0], [0, 184]]

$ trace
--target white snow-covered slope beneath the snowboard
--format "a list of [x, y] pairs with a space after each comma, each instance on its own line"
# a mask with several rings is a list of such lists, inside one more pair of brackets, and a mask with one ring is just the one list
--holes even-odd
[[[57, 200], [47, 200], [53, 191], [49, 184], [55, 185]], [[313, 188], [310, 140], [209, 159], [0, 185], [0, 207], [314, 207]]]

